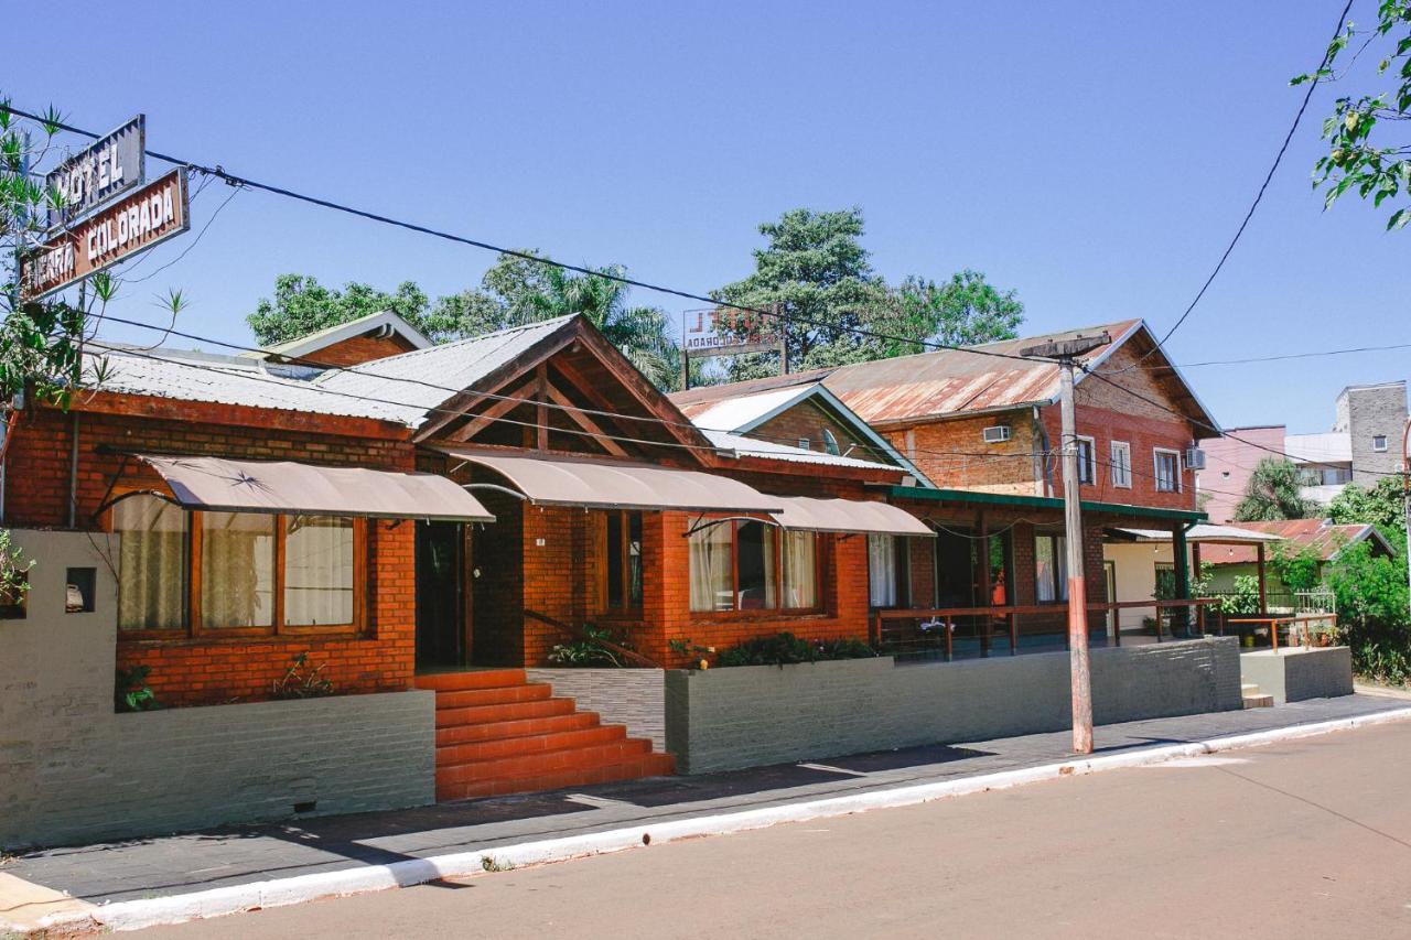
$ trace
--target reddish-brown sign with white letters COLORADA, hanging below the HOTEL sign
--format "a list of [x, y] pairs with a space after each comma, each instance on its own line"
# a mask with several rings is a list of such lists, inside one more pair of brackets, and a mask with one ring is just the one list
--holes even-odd
[[72, 227], [20, 263], [20, 294], [37, 301], [190, 227], [186, 171], [174, 169]]

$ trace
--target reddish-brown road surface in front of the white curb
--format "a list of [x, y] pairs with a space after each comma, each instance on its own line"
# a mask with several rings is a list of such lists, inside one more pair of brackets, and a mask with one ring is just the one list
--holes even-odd
[[1408, 797], [1397, 723], [143, 937], [1405, 937]]

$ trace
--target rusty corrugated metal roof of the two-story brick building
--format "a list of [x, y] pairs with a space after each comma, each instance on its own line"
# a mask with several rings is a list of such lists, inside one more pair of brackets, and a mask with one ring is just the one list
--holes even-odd
[[[1029, 346], [1108, 330], [1112, 342], [1079, 358], [1092, 364], [1140, 326], [1141, 320], [1122, 320], [974, 349], [1019, 356]], [[876, 423], [1047, 402], [1058, 394], [1058, 367], [1047, 361], [938, 350], [844, 366], [832, 370], [823, 384], [865, 421]]]

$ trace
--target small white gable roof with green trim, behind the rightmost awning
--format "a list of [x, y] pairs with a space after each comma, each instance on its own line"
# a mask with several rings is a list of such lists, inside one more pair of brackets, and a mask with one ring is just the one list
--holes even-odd
[[[741, 382], [744, 384], [744, 382]], [[717, 387], [729, 388], [729, 385]], [[689, 397], [690, 392], [667, 395], [673, 402]], [[769, 419], [800, 405], [814, 401], [824, 411], [834, 415], [840, 423], [852, 433], [868, 442], [871, 450], [886, 456], [888, 462], [861, 460], [844, 454], [827, 453], [824, 450], [804, 450], [790, 445], [751, 436], [751, 432]], [[820, 463], [835, 466], [878, 469], [900, 469], [917, 478], [921, 486], [934, 486], [910, 460], [903, 457], [886, 438], [872, 429], [837, 395], [828, 391], [821, 382], [797, 382], [765, 391], [748, 392], [737, 397], [717, 397], [711, 399], [697, 398], [687, 401], [682, 412], [700, 428], [707, 438], [721, 447], [753, 453], [755, 456], [770, 456], [779, 460], [794, 460], [799, 463]], [[890, 467], [889, 467], [890, 464]]]

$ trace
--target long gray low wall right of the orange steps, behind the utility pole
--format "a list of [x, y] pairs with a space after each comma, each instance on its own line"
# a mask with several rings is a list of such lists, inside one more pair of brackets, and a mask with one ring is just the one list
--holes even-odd
[[[1092, 651], [1098, 723], [1239, 709], [1239, 685], [1233, 637]], [[666, 673], [666, 749], [683, 773], [983, 741], [1070, 724], [1065, 652]]]

